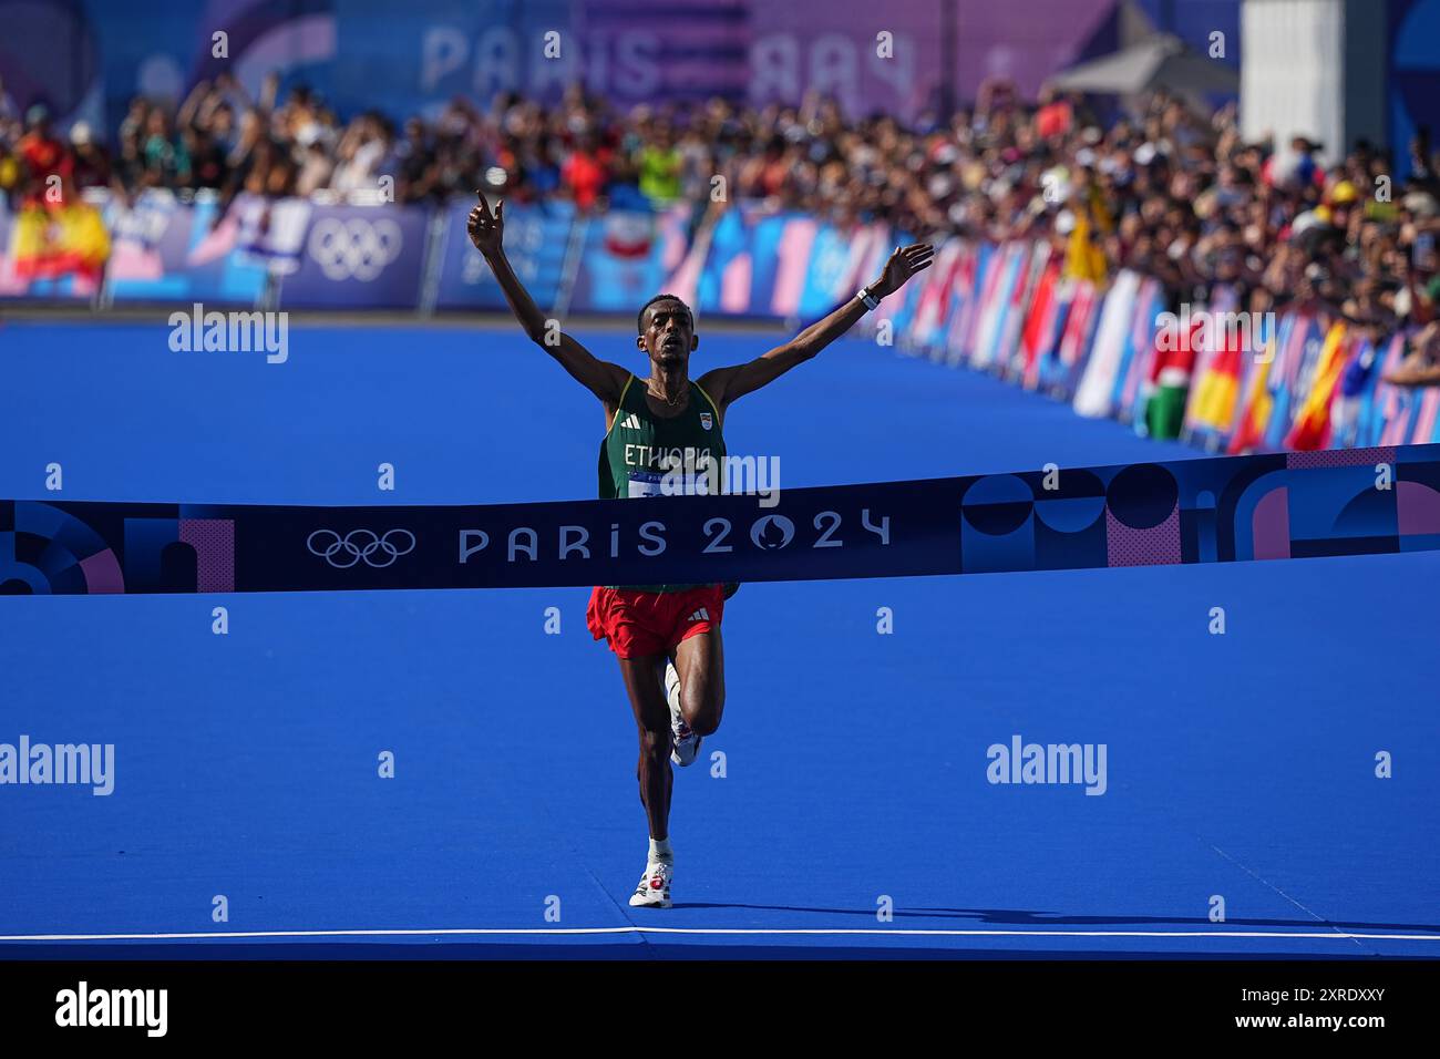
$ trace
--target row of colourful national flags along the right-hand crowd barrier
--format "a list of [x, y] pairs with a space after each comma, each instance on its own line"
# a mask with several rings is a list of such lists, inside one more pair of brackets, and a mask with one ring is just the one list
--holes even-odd
[[1244, 313], [1225, 285], [1169, 314], [1156, 281], [1120, 271], [1102, 290], [1045, 243], [955, 241], [936, 262], [877, 314], [897, 341], [1080, 415], [1233, 455], [1440, 441], [1440, 386], [1382, 379], [1407, 331], [1375, 339], [1319, 311]]

